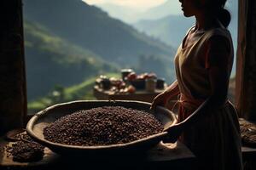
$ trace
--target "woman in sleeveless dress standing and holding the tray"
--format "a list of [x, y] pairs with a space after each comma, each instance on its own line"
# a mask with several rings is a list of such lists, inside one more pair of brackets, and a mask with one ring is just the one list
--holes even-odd
[[179, 0], [185, 17], [195, 16], [177, 49], [177, 81], [155, 97], [151, 108], [178, 99], [178, 123], [167, 129], [193, 151], [201, 169], [242, 169], [236, 110], [227, 100], [233, 65], [226, 0]]

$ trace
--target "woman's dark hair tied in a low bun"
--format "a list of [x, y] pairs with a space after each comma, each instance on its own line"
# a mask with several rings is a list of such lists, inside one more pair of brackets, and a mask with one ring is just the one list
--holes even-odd
[[230, 12], [224, 8], [227, 0], [206, 0], [207, 14], [217, 16], [224, 27], [230, 25]]

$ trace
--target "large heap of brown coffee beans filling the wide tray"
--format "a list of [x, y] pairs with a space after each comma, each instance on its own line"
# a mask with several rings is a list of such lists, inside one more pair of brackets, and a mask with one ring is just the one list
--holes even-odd
[[60, 144], [125, 144], [161, 133], [162, 124], [145, 111], [103, 106], [63, 116], [44, 127], [44, 138]]

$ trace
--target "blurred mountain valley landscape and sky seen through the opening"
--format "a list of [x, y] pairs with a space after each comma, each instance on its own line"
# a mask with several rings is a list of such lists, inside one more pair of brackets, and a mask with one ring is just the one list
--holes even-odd
[[[154, 72], [171, 83], [173, 59], [194, 18], [178, 0], [23, 0], [28, 114], [95, 99], [100, 75]], [[236, 54], [238, 1], [228, 0]], [[234, 100], [236, 59], [229, 98]]]

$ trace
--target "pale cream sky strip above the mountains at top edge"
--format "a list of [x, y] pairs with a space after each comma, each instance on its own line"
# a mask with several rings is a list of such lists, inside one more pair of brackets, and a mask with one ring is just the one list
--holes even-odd
[[137, 9], [147, 9], [161, 3], [165, 3], [166, 0], [83, 0], [89, 4], [98, 4], [98, 3], [113, 3], [117, 5], [124, 5], [131, 8]]

